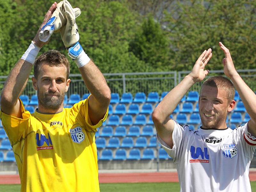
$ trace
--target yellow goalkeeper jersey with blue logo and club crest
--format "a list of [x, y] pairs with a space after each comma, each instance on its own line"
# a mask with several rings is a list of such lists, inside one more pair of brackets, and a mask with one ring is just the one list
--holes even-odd
[[[21, 101], [20, 101], [21, 102]], [[88, 100], [57, 114], [30, 114], [21, 104], [22, 119], [1, 112], [17, 162], [21, 191], [100, 191], [95, 131]]]

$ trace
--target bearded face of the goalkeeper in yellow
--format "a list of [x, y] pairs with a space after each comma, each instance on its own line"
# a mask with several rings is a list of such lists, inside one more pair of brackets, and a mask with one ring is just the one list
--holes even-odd
[[34, 89], [37, 90], [38, 110], [42, 113], [60, 112], [70, 83], [70, 79], [67, 79], [67, 68], [44, 62], [40, 66], [38, 77], [33, 77], [32, 81]]

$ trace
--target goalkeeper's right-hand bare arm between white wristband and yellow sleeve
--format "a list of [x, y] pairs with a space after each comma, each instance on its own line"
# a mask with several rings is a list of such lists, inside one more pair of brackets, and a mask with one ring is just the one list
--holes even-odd
[[110, 102], [110, 89], [100, 72], [100, 69], [89, 61], [83, 67], [78, 68], [86, 87], [91, 92], [89, 97], [89, 116], [92, 124], [97, 124], [102, 119], [108, 109]]

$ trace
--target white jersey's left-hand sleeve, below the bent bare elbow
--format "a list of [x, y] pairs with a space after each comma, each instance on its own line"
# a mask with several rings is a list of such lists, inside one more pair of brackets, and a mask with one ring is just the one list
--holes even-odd
[[185, 138], [186, 132], [188, 131], [188, 126], [182, 127], [176, 121], [174, 121], [174, 128], [172, 132], [173, 147], [170, 148], [158, 135], [156, 135], [158, 142], [161, 144], [162, 148], [167, 152], [167, 154], [173, 158], [175, 164], [179, 161], [179, 156], [181, 155], [183, 148], [183, 140]]

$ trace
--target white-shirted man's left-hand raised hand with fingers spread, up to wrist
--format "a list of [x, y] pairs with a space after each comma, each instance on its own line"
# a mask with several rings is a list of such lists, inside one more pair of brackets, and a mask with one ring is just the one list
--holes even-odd
[[197, 59], [192, 71], [189, 73], [189, 76], [193, 78], [194, 82], [202, 81], [204, 77], [209, 73], [209, 70], [204, 70], [204, 67], [211, 59], [211, 57], [212, 49], [209, 48], [207, 51], [204, 50], [204, 52]]

